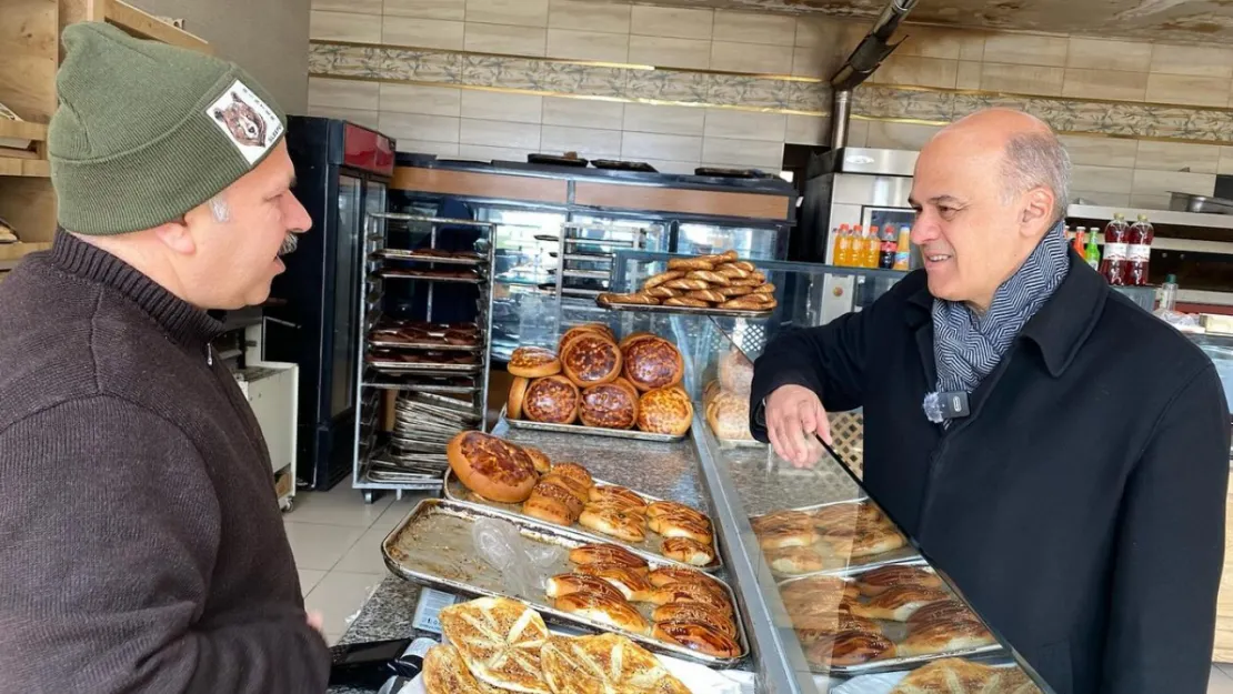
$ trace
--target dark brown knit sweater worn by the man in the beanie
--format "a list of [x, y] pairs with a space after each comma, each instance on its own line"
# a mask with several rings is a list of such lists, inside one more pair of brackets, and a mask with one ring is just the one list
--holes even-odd
[[63, 232], [0, 285], [0, 692], [326, 690], [218, 332]]

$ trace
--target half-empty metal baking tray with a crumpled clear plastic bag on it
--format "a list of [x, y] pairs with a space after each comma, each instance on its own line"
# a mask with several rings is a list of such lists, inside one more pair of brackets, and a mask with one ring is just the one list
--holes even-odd
[[[536, 590], [534, 595], [506, 593], [501, 573], [480, 558], [472, 549], [471, 524], [478, 518], [506, 520], [517, 526], [523, 537], [535, 542], [556, 545], [565, 550], [594, 542], [592, 537], [581, 533], [525, 518], [512, 518], [494, 509], [446, 499], [424, 499], [381, 542], [381, 553], [385, 556], [386, 566], [397, 576], [430, 588], [473, 597], [514, 598], [531, 605], [549, 621], [582, 626], [596, 631], [618, 632], [651, 651], [714, 668], [731, 668], [748, 655], [750, 642], [745, 635], [745, 623], [741, 619], [740, 603], [737, 603], [731, 587], [719, 579], [716, 581], [724, 587], [729, 600], [731, 600], [735, 613], [734, 621], [736, 623], [737, 642], [742, 650], [740, 656], [732, 658], [719, 658], [698, 653], [683, 646], [666, 643], [651, 636], [624, 631], [560, 611], [549, 604], [549, 598], [543, 590]], [[682, 566], [647, 552], [635, 551], [635, 553], [645, 558], [651, 565], [651, 568]], [[561, 562], [559, 569], [554, 567], [554, 574], [572, 571], [573, 565], [570, 563], [568, 558], [562, 558]], [[653, 609], [652, 605], [646, 603], [633, 604], [647, 618], [647, 621], [651, 621], [650, 610]]]

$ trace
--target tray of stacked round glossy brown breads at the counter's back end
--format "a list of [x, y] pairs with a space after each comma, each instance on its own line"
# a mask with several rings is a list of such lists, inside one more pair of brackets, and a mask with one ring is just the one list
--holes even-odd
[[681, 350], [652, 333], [618, 340], [608, 325], [568, 329], [556, 351], [519, 346], [503, 417], [509, 427], [645, 441], [679, 441], [693, 423]]

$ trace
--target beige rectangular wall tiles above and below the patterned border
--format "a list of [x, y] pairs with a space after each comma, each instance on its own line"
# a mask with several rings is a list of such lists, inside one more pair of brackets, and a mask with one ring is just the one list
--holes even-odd
[[[834, 73], [866, 23], [578, 0], [313, 0], [311, 37], [645, 64], [688, 70]], [[1233, 49], [911, 26], [874, 84], [1084, 100], [1231, 104]], [[783, 144], [821, 143], [826, 117], [312, 78], [309, 111], [369, 123], [407, 150], [523, 159], [576, 150], [647, 160], [776, 169]], [[1116, 105], [1110, 107], [1117, 117]], [[938, 126], [853, 121], [851, 144], [919, 148]], [[1233, 148], [1068, 136], [1075, 191], [1092, 202], [1168, 206], [1168, 191], [1211, 194]], [[1182, 171], [1189, 169], [1189, 171]]]

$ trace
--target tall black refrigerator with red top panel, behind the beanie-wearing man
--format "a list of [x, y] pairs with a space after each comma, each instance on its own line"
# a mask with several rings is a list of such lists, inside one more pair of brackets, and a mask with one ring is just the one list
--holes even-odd
[[274, 282], [266, 359], [300, 365], [298, 486], [324, 491], [350, 475], [355, 455], [365, 213], [386, 211], [395, 141], [345, 121], [291, 116], [287, 150], [292, 192], [312, 229]]

